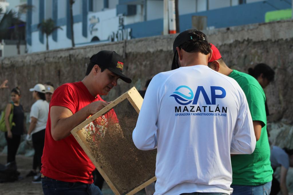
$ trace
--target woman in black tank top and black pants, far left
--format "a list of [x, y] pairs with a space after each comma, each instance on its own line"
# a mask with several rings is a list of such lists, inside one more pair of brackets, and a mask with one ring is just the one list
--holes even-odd
[[[19, 103], [21, 93], [18, 87], [12, 89], [11, 100], [12, 102], [6, 106], [5, 112], [5, 125], [7, 132], [5, 132], [5, 138], [7, 141], [7, 163], [15, 163], [15, 156], [20, 144], [21, 135], [24, 132], [24, 111], [23, 106]], [[13, 119], [15, 126], [10, 126], [8, 117], [11, 112], [13, 104]], [[16, 165], [16, 164], [15, 164]]]

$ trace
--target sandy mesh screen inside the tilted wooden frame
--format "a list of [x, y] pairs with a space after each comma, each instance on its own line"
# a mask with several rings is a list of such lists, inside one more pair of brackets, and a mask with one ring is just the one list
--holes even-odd
[[120, 194], [155, 176], [156, 150], [138, 150], [132, 141], [137, 117], [125, 99], [78, 132]]

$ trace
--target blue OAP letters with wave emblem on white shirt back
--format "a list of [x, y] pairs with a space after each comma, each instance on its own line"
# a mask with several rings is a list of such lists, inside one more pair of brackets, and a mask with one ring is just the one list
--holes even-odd
[[[180, 90], [182, 93], [179, 92], [178, 90]], [[221, 91], [222, 94], [216, 95], [216, 90]], [[185, 93], [185, 94], [187, 93], [187, 95], [185, 95], [183, 93]], [[219, 87], [219, 86], [211, 86], [211, 99], [209, 99], [209, 96], [207, 95], [207, 92], [205, 91], [205, 88], [203, 88], [203, 86], [198, 86], [196, 89], [195, 95], [194, 95], [193, 91], [190, 89], [190, 87], [188, 87], [186, 85], [181, 85], [178, 88], [176, 88], [175, 92], [173, 92], [173, 94], [170, 96], [174, 97], [176, 102], [180, 105], [188, 105], [191, 102], [192, 102], [192, 104], [196, 105], [198, 98], [200, 96], [200, 93], [202, 93], [202, 96], [205, 99], [205, 102], [207, 105], [215, 105], [217, 98], [225, 98], [226, 97], [225, 89], [222, 87]]]

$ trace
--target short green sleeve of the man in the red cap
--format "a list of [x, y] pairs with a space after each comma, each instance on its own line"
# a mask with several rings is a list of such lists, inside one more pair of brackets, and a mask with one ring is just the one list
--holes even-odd
[[247, 85], [243, 88], [248, 102], [249, 110], [253, 121], [260, 121], [261, 127], [266, 125], [265, 97], [255, 85]]

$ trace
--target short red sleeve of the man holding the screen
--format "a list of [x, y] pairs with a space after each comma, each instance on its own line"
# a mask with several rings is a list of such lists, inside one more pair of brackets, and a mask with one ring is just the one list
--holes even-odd
[[76, 112], [77, 102], [78, 98], [73, 89], [68, 84], [63, 84], [54, 91], [50, 108], [52, 106], [63, 106], [71, 110], [74, 114]]

